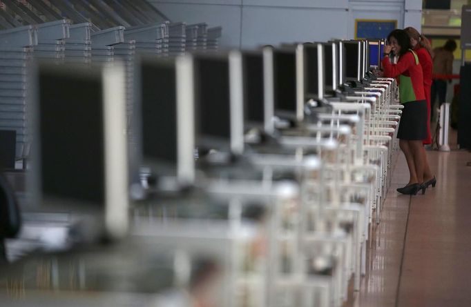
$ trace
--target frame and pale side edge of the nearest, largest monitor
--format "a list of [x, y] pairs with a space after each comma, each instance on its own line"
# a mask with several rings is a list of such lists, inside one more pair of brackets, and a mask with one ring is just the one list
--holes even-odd
[[[104, 137], [104, 204], [44, 195], [41, 185], [41, 142], [39, 133], [39, 76], [41, 71], [99, 79], [102, 86], [103, 137]], [[32, 137], [30, 149], [30, 171], [26, 175], [27, 190], [30, 192], [32, 212], [58, 212], [75, 217], [102, 219], [95, 221], [99, 232], [112, 239], [124, 237], [128, 230], [128, 155], [126, 130], [126, 83], [124, 66], [119, 62], [113, 66], [81, 66], [78, 64], [36, 61], [30, 66], [28, 77], [30, 90], [27, 92], [29, 128]], [[86, 126], [86, 121], [84, 121]], [[87, 137], [90, 132], [87, 132]], [[28, 209], [27, 209], [28, 210]], [[92, 223], [90, 221], [90, 223]], [[97, 225], [95, 224], [95, 226]], [[99, 236], [99, 234], [97, 234]]]

